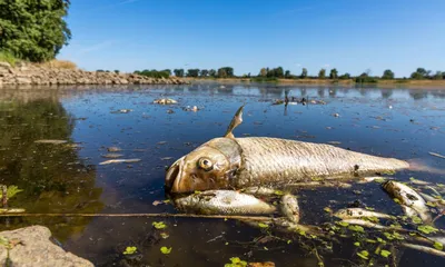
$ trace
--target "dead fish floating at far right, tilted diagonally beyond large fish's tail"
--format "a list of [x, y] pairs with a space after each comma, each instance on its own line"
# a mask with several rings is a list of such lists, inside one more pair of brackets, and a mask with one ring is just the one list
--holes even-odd
[[413, 188], [398, 181], [386, 181], [383, 184], [383, 188], [392, 197], [398, 199], [403, 206], [406, 206], [406, 208], [403, 207], [403, 209], [408, 216], [413, 215], [413, 211], [409, 209], [414, 209], [424, 222], [432, 221], [432, 216], [425, 199]]

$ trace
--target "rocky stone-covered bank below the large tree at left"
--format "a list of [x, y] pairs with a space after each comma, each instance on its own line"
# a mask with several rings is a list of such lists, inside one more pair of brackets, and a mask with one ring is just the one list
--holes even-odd
[[31, 63], [16, 67], [0, 62], [0, 88], [14, 85], [186, 85], [182, 79], [150, 78], [134, 73], [85, 71], [79, 69], [48, 68]]

